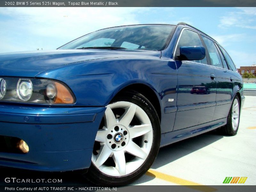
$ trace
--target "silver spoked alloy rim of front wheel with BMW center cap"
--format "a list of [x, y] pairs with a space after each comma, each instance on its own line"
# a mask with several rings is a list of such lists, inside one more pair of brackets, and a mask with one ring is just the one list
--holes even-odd
[[152, 124], [138, 105], [118, 101], [107, 106], [104, 126], [97, 132], [95, 142], [99, 144], [94, 148], [92, 163], [109, 176], [127, 175], [137, 170], [149, 155]]

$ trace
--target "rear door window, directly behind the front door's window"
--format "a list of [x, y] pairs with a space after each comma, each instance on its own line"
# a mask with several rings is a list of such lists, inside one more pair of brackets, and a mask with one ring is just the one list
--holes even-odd
[[215, 44], [213, 43], [213, 41], [208, 39], [205, 36], [202, 36], [202, 39], [204, 40], [204, 43], [205, 43], [205, 45], [207, 47], [207, 50], [209, 52], [212, 65], [215, 66], [215, 67], [223, 68], [222, 62], [221, 62], [221, 59], [220, 59], [220, 54], [219, 54]]

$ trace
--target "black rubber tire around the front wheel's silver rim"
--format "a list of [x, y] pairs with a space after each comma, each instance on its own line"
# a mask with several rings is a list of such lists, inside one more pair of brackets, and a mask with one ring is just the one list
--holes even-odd
[[146, 112], [153, 128], [153, 143], [148, 157], [146, 158], [145, 162], [139, 167], [139, 169], [124, 176], [114, 177], [104, 174], [92, 163], [90, 168], [88, 169], [87, 174], [85, 174], [84, 176], [87, 178], [87, 180], [96, 185], [121, 186], [132, 183], [148, 171], [148, 169], [155, 161], [159, 151], [161, 140], [160, 121], [155, 108], [149, 102], [149, 100], [138, 92], [127, 91], [116, 95], [116, 97], [110, 103], [114, 103], [117, 101], [132, 102]]

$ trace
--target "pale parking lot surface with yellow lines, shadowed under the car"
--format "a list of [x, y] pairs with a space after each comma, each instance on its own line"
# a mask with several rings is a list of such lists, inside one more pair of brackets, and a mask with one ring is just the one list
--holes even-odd
[[[151, 169], [133, 185], [223, 185], [226, 177], [247, 177], [242, 185], [255, 185], [255, 101], [256, 97], [246, 96], [236, 136], [212, 131], [163, 147]], [[6, 177], [62, 179], [57, 185], [89, 185], [76, 172], [48, 173], [5, 167], [0, 172], [0, 185], [7, 184]]]

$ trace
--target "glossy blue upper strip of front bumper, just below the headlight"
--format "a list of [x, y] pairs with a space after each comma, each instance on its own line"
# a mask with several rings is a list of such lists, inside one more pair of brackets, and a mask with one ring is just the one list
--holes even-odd
[[0, 122], [25, 124], [63, 124], [93, 122], [95, 120], [96, 114], [104, 112], [105, 108], [53, 108], [0, 105], [0, 111]]

